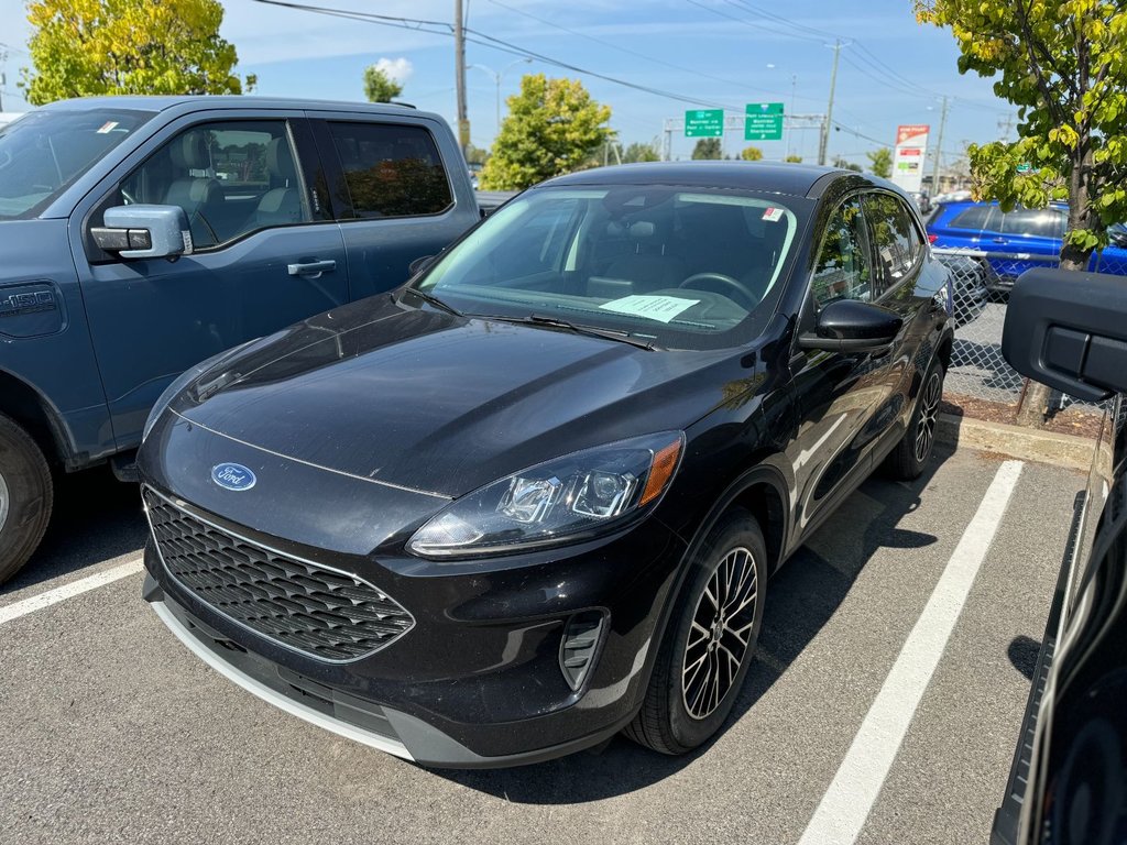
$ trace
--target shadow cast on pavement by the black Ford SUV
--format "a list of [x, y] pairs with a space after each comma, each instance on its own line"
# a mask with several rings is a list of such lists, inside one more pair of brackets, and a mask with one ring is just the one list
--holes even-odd
[[[937, 445], [934, 457], [915, 481], [891, 482], [879, 473], [866, 481], [772, 578], [755, 662], [718, 738], [747, 713], [822, 630], [878, 549], [919, 549], [937, 542], [931, 534], [896, 524], [919, 507], [921, 492], [952, 453], [951, 447]], [[834, 542], [817, 543], [819, 535], [832, 536]], [[713, 741], [692, 754], [667, 757], [619, 735], [601, 753], [579, 753], [521, 768], [434, 773], [515, 803], [583, 803], [657, 783], [708, 755]]]

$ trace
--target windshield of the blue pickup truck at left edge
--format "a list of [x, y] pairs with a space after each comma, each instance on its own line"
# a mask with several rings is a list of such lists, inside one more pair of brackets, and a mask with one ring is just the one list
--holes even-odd
[[41, 110], [0, 128], [0, 220], [34, 217], [149, 112]]

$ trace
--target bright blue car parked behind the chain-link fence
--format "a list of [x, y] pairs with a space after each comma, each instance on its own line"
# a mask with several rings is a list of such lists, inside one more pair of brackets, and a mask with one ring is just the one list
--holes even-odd
[[[1065, 205], [1004, 212], [997, 203], [940, 203], [928, 220], [928, 239], [937, 248], [988, 254], [988, 287], [1006, 294], [1022, 273], [1059, 258], [1067, 224]], [[1127, 275], [1127, 238], [1121, 226], [1109, 233], [1110, 246], [1092, 255], [1089, 269]]]

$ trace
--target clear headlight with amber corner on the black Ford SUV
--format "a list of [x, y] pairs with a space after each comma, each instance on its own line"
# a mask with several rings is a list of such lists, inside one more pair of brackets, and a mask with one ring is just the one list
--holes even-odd
[[681, 459], [681, 432], [635, 437], [538, 464], [454, 501], [415, 532], [424, 558], [576, 542], [648, 513]]

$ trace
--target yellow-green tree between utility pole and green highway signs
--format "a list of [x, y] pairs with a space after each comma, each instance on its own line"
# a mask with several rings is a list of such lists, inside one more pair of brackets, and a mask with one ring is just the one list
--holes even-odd
[[508, 98], [508, 115], [481, 170], [481, 187], [520, 190], [584, 167], [612, 136], [611, 107], [579, 80], [530, 73]]

